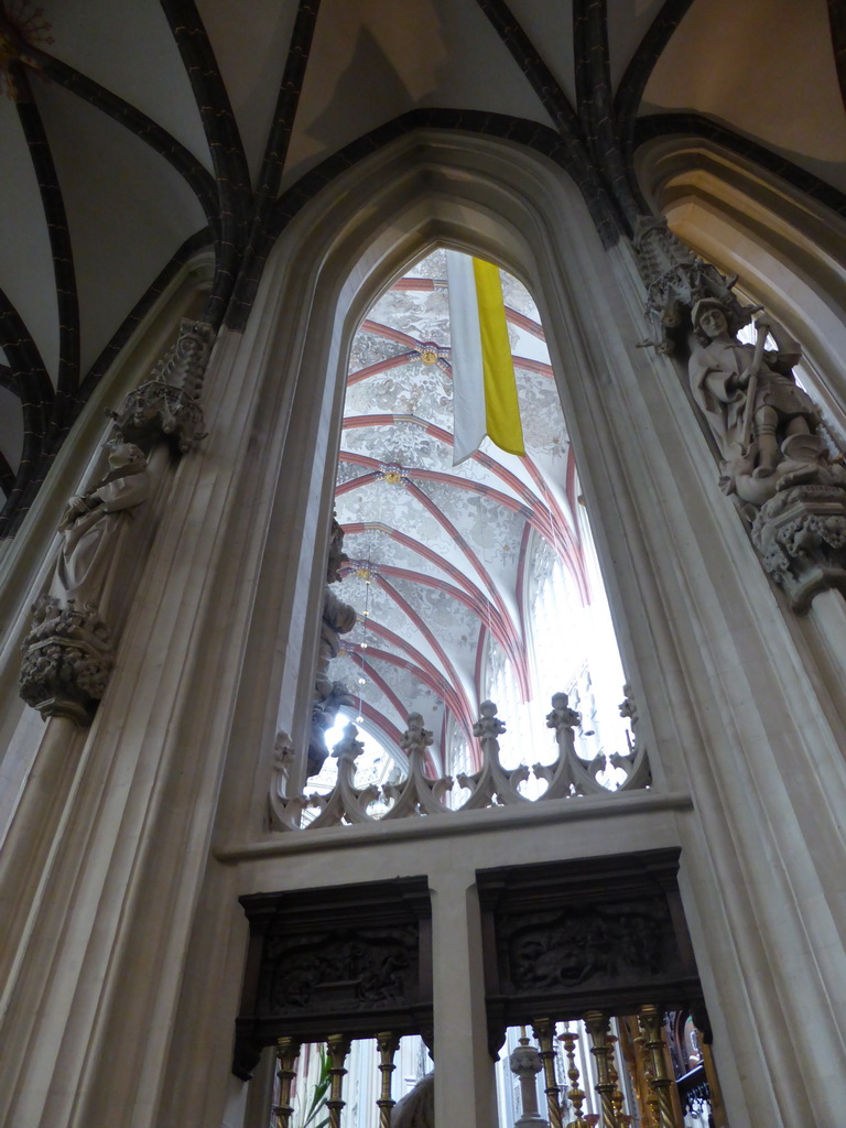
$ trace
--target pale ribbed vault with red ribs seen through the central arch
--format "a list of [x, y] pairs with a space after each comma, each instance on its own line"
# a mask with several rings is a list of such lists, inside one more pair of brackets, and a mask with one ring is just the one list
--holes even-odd
[[527, 569], [558, 557], [587, 597], [574, 467], [544, 331], [527, 291], [508, 275], [503, 283], [526, 458], [485, 440], [452, 465], [443, 252], [400, 279], [353, 342], [335, 506], [350, 556], [337, 593], [359, 618], [332, 677], [388, 747], [411, 712], [433, 731], [437, 754], [450, 719], [469, 740], [490, 640], [521, 694], [535, 696]]

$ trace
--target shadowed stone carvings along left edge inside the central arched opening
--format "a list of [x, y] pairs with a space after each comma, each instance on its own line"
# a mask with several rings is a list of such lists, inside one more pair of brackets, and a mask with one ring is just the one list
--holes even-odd
[[312, 776], [323, 767], [329, 755], [326, 744], [326, 733], [334, 725], [335, 717], [342, 705], [353, 705], [355, 698], [342, 681], [333, 681], [329, 677], [329, 662], [341, 650], [340, 636], [349, 634], [355, 626], [355, 608], [343, 602], [332, 591], [331, 584], [341, 581], [340, 567], [347, 559], [343, 552], [344, 530], [332, 519], [332, 538], [329, 540], [329, 557], [326, 567], [326, 591], [324, 594], [323, 619], [320, 623], [320, 642], [317, 653], [317, 676], [315, 679], [315, 699], [311, 710], [311, 737], [308, 746], [307, 775]]

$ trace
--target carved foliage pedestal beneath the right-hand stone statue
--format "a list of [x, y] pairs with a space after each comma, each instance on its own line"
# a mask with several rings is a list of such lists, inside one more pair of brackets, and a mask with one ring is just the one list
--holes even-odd
[[800, 485], [764, 504], [752, 525], [764, 567], [795, 611], [821, 591], [846, 594], [846, 490]]

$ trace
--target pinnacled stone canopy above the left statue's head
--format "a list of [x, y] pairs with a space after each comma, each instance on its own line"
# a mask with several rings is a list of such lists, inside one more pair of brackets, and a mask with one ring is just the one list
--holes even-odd
[[149, 450], [164, 437], [185, 453], [205, 438], [200, 394], [213, 343], [208, 321], [182, 319], [176, 343], [152, 369], [151, 379], [131, 391], [120, 411], [107, 412], [125, 441]]

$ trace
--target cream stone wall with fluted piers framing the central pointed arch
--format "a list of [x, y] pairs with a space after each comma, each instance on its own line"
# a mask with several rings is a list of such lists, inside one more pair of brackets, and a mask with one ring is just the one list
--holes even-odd
[[[275, 733], [306, 744], [346, 350], [379, 291], [439, 244], [502, 263], [538, 300], [654, 787], [273, 834]], [[679, 845], [732, 1128], [840, 1122], [846, 717], [827, 684], [841, 651], [770, 588], [675, 363], [635, 347], [643, 297], [631, 250], [602, 249], [573, 184], [506, 142], [408, 135], [285, 230], [247, 332], [215, 345], [210, 434], [157, 500], [92, 726], [49, 721], [35, 767], [16, 768], [0, 1121], [261, 1123], [229, 1075], [238, 896], [425, 873], [437, 1116], [490, 1123], [475, 871]], [[15, 543], [15, 622], [94, 457], [89, 420]], [[34, 746], [9, 662], [0, 688]]]

